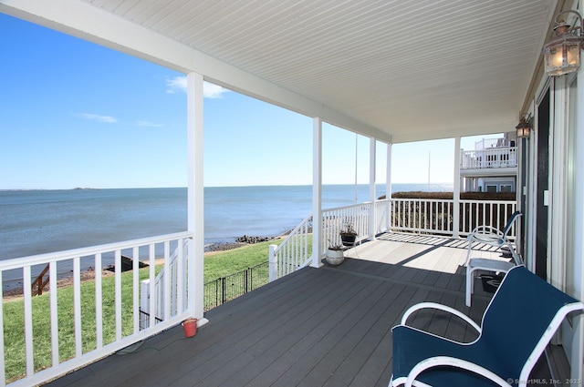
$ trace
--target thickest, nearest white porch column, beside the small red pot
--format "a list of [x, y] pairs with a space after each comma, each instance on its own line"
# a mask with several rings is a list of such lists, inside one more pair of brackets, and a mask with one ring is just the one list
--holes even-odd
[[207, 322], [203, 319], [203, 76], [197, 73], [187, 75], [187, 130], [187, 229], [194, 233], [188, 250], [187, 307], [202, 325]]

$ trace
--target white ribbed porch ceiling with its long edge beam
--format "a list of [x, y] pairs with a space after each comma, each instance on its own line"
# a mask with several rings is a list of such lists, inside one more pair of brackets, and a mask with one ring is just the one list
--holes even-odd
[[513, 130], [556, 1], [5, 0], [0, 12], [378, 137]]

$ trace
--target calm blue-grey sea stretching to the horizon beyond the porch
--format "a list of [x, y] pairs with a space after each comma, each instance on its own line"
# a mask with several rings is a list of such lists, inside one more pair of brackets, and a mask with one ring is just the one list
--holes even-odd
[[[395, 184], [392, 190], [448, 191], [452, 185]], [[355, 191], [324, 186], [323, 207], [352, 204]], [[357, 199], [368, 198], [368, 186], [358, 186]], [[295, 227], [311, 212], [312, 188], [205, 188], [204, 199], [204, 239], [214, 243]], [[186, 201], [186, 188], [0, 191], [0, 260], [184, 231]]]

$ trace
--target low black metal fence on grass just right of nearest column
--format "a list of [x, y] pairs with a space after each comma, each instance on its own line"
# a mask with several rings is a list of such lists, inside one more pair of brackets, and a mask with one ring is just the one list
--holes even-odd
[[207, 282], [204, 284], [204, 310], [209, 311], [268, 282], [268, 262]]

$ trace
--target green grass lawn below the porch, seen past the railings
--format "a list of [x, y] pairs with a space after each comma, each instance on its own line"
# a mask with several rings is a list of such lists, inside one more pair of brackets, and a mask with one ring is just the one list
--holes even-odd
[[[207, 254], [204, 264], [204, 281], [245, 270], [268, 260], [268, 246], [281, 240], [258, 243], [235, 250]], [[157, 267], [157, 272], [162, 266]], [[140, 279], [147, 279], [149, 269], [140, 270]], [[114, 277], [102, 279], [103, 294], [103, 344], [115, 340], [115, 284]], [[122, 332], [124, 336], [133, 331], [132, 311], [132, 272], [121, 274], [122, 281]], [[41, 370], [51, 364], [50, 310], [49, 293], [32, 299], [35, 369]], [[73, 287], [57, 290], [59, 359], [61, 362], [75, 355], [75, 336], [73, 319]], [[95, 335], [95, 282], [89, 280], [81, 284], [81, 329], [83, 351], [96, 349]], [[5, 370], [6, 381], [14, 382], [26, 372], [24, 301], [6, 300], [4, 302], [5, 331]]]

